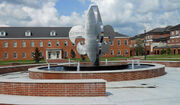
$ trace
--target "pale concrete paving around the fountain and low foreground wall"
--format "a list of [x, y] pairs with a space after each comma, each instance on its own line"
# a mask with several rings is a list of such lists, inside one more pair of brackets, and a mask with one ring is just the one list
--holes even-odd
[[[108, 82], [107, 97], [0, 95], [0, 103], [22, 105], [31, 105], [29, 103], [34, 105], [180, 105], [180, 68], [166, 67], [166, 72], [166, 75], [157, 78]], [[17, 76], [17, 73], [15, 74]], [[26, 73], [24, 74], [27, 76]]]

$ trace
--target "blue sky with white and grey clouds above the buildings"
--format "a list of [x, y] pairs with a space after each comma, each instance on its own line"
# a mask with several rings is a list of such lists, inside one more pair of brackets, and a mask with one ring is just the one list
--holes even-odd
[[0, 27], [83, 25], [90, 4], [104, 25], [129, 36], [180, 24], [180, 0], [0, 0]]

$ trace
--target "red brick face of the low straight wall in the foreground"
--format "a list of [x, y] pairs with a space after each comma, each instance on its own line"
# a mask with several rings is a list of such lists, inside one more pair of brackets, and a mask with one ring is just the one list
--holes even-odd
[[0, 82], [0, 94], [21, 96], [106, 96], [102, 83], [23, 83]]

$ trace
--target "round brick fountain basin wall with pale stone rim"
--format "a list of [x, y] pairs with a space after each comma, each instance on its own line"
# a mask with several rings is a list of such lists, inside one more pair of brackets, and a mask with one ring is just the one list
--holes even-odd
[[165, 66], [161, 64], [149, 65], [148, 68], [101, 70], [101, 71], [53, 71], [43, 70], [43, 67], [29, 69], [31, 79], [104, 79], [110, 81], [138, 80], [162, 76], [165, 74]]

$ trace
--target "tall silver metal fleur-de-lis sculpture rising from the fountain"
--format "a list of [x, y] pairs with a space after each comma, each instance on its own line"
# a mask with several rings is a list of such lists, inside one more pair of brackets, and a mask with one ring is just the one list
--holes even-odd
[[[84, 26], [74, 26], [69, 32], [69, 38], [75, 44], [76, 38], [84, 38], [85, 44], [78, 43], [77, 51], [81, 55], [87, 54], [94, 65], [99, 65], [101, 54], [109, 51], [109, 43], [114, 39], [114, 30], [111, 26], [103, 26], [97, 5], [90, 5]], [[109, 40], [104, 40], [104, 36]]]

